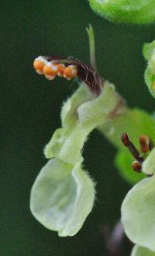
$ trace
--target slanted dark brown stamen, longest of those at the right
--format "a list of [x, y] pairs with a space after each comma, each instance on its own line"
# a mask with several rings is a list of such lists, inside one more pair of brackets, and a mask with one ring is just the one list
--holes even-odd
[[130, 141], [129, 136], [126, 133], [123, 133], [121, 136], [122, 143], [124, 146], [126, 146], [129, 149], [129, 152], [132, 153], [132, 155], [135, 157], [135, 159], [142, 163], [143, 162], [143, 157], [140, 156], [140, 153], [136, 149], [136, 147], [133, 145], [133, 143]]

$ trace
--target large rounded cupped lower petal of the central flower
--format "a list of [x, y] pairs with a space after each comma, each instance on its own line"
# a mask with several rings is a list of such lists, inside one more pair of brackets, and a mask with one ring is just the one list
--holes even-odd
[[33, 184], [30, 209], [33, 216], [60, 237], [74, 236], [91, 212], [94, 183], [81, 169], [61, 160], [50, 160]]

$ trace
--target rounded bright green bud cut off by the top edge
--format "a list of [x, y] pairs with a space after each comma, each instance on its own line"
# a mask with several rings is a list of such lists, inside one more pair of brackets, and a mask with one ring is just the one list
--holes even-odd
[[146, 24], [155, 21], [154, 0], [89, 0], [91, 9], [115, 23]]

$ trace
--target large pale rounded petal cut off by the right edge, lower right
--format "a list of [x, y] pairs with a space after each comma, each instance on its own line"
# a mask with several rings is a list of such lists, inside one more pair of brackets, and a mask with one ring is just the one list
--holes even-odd
[[136, 184], [122, 202], [122, 224], [133, 243], [155, 251], [155, 176]]

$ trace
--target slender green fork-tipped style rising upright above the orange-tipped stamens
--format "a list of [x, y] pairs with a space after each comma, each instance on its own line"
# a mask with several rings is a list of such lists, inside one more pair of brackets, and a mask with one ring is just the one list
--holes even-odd
[[86, 27], [86, 31], [88, 33], [88, 40], [89, 40], [89, 51], [90, 51], [90, 62], [91, 62], [91, 67], [96, 68], [96, 60], [95, 60], [95, 36], [94, 36], [94, 31], [89, 24], [89, 27]]

